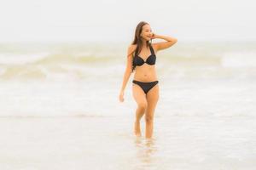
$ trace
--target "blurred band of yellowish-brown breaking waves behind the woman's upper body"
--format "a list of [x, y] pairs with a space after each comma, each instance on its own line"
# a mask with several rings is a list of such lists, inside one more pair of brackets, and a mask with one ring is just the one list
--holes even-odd
[[[28, 46], [5, 50], [0, 52], [0, 79], [113, 78], [123, 73], [126, 62], [125, 48], [115, 47], [67, 45], [26, 51]], [[178, 78], [255, 77], [255, 51], [250, 46], [248, 51], [231, 47], [177, 46], [157, 54], [157, 68], [160, 74]]]

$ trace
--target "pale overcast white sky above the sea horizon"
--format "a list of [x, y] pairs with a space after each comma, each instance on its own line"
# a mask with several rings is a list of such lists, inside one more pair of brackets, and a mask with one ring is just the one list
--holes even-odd
[[179, 41], [256, 40], [253, 0], [0, 0], [0, 42], [131, 42], [141, 20]]

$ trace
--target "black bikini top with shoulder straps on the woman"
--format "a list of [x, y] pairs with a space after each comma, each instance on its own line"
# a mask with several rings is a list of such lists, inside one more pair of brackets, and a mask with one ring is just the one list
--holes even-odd
[[155, 56], [155, 54], [154, 54], [154, 49], [152, 48], [151, 45], [149, 46], [149, 48], [150, 48], [151, 54], [148, 56], [148, 58], [146, 59], [146, 61], [144, 61], [143, 58], [141, 58], [140, 56], [137, 55], [137, 50], [136, 50], [135, 56], [134, 56], [133, 62], [132, 62], [132, 65], [133, 65], [134, 67], [135, 67], [136, 65], [141, 66], [141, 65], [143, 65], [144, 63], [147, 63], [148, 65], [154, 65], [154, 64], [155, 64], [156, 56]]

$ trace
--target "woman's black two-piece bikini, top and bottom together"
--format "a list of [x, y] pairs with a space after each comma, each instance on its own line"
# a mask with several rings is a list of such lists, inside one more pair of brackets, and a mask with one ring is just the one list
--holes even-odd
[[[155, 65], [156, 56], [154, 54], [154, 49], [152, 48], [151, 45], [149, 45], [149, 48], [150, 48], [151, 54], [148, 56], [146, 61], [144, 61], [143, 58], [141, 58], [140, 56], [137, 55], [137, 50], [136, 50], [135, 56], [134, 56], [133, 61], [132, 61], [132, 65], [134, 67], [136, 67], [137, 65], [141, 66], [141, 65], [143, 65], [145, 63], [147, 63], [148, 65]], [[139, 85], [141, 88], [143, 88], [143, 91], [144, 91], [145, 94], [148, 94], [148, 91], [151, 88], [154, 88], [154, 86], [158, 83], [158, 81], [154, 81], [154, 82], [139, 82], [137, 80], [133, 80], [132, 82], [137, 84], [137, 85]]]

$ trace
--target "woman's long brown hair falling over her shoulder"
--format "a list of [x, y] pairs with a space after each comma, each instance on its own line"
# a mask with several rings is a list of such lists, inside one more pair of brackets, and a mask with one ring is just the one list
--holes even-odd
[[[135, 35], [134, 35], [134, 39], [133, 42], [131, 43], [132, 45], [137, 44], [137, 48], [135, 49], [135, 54], [139, 54], [141, 52], [141, 50], [143, 49], [143, 39], [141, 37], [141, 33], [143, 31], [143, 26], [148, 25], [147, 22], [145, 21], [141, 21], [140, 23], [138, 23], [137, 27], [136, 27], [136, 31], [135, 31]], [[151, 46], [151, 42], [152, 40], [149, 42], [146, 42], [147, 47]], [[134, 55], [133, 55], [134, 57]], [[135, 69], [135, 65], [133, 65], [133, 59], [132, 59], [132, 71]]]

